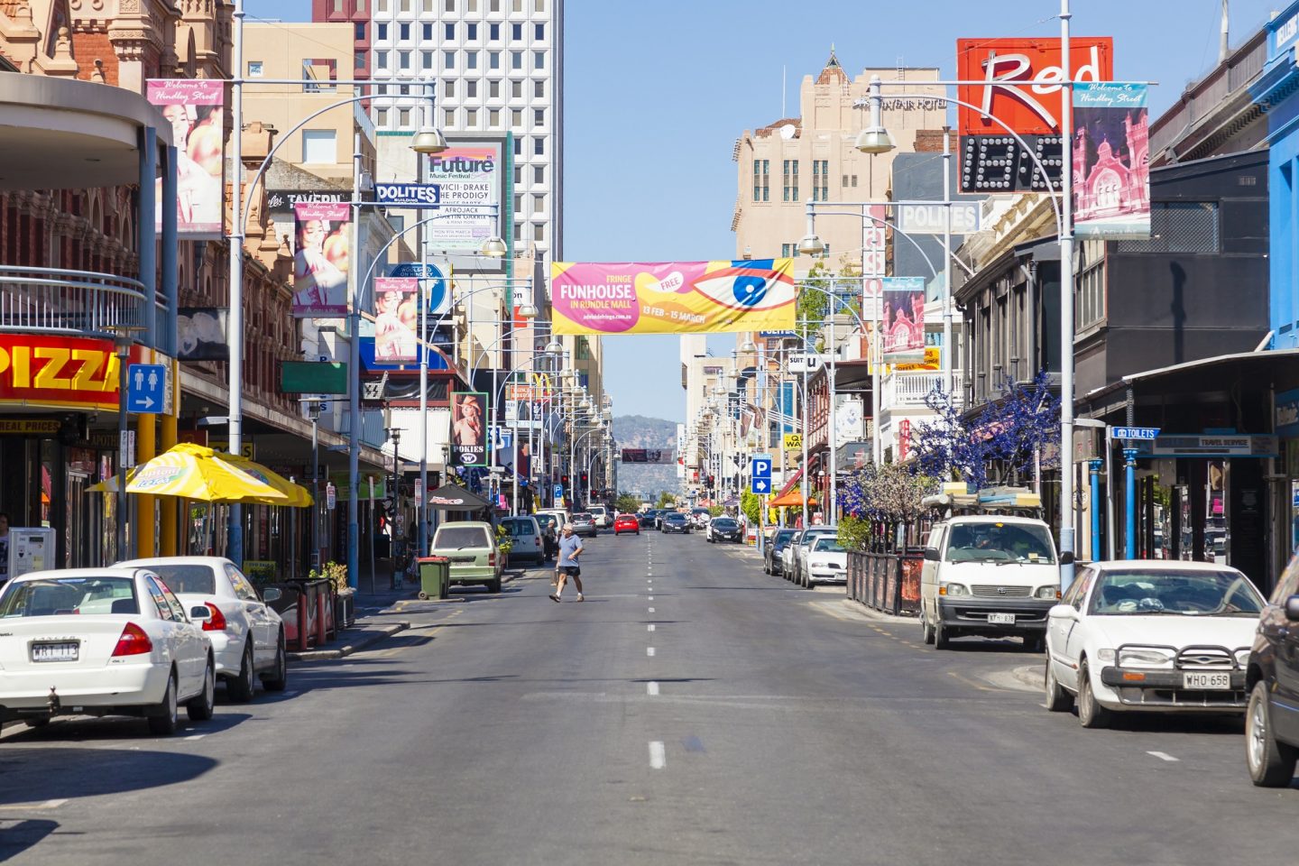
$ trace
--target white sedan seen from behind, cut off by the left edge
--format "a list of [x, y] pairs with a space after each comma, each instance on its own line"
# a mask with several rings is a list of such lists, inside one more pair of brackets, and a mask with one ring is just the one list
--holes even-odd
[[[205, 608], [201, 613], [208, 613]], [[212, 718], [212, 641], [148, 569], [34, 571], [0, 591], [0, 721]]]

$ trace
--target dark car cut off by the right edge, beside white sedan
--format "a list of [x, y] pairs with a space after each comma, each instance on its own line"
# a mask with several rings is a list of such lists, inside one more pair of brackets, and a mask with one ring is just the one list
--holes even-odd
[[1254, 784], [1283, 788], [1299, 760], [1299, 556], [1259, 615], [1244, 687], [1244, 758]]

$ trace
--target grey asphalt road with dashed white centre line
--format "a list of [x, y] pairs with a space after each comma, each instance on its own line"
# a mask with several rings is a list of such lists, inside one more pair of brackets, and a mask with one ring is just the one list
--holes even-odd
[[[1237, 721], [1051, 714], [1013, 641], [920, 644], [696, 535], [586, 543], [410, 602], [290, 691], [0, 739], [0, 860], [86, 863], [1243, 863], [1293, 853]], [[220, 699], [218, 691], [218, 699]]]

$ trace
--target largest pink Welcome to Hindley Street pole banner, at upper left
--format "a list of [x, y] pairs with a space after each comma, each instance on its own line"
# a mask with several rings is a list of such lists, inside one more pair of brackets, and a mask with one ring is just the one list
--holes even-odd
[[[177, 151], [177, 234], [187, 240], [221, 238], [225, 166], [225, 82], [149, 79], [145, 99], [171, 123]], [[162, 182], [157, 182], [157, 201]], [[162, 231], [162, 210], [155, 221]]]

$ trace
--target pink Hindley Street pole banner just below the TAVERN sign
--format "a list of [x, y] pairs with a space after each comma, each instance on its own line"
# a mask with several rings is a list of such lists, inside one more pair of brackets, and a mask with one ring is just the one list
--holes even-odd
[[351, 205], [294, 205], [294, 315], [331, 318], [347, 314]]

